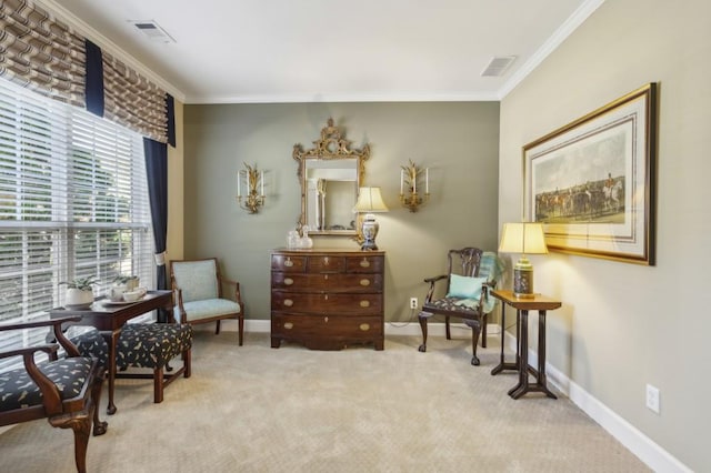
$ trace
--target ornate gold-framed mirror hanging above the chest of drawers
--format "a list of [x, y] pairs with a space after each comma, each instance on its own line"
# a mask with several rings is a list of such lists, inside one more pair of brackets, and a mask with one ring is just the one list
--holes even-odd
[[310, 235], [358, 236], [360, 214], [353, 213], [353, 205], [363, 185], [370, 144], [351, 149], [332, 118], [313, 144], [308, 150], [293, 145], [301, 183], [299, 232], [308, 227]]

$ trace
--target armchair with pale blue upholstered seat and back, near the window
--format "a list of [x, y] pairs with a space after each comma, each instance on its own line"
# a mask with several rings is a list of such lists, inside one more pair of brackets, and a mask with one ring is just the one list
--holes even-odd
[[[237, 319], [239, 344], [244, 332], [244, 304], [240, 284], [222, 278], [216, 258], [203, 260], [173, 260], [170, 280], [176, 294], [174, 318], [179, 323], [216, 322], [214, 333], [220, 333], [220, 321]], [[230, 286], [229, 296], [222, 295], [223, 286]]]

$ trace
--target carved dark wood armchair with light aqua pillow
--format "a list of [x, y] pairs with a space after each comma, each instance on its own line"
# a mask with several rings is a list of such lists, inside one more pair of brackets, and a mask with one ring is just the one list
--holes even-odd
[[[487, 319], [494, 308], [495, 299], [489, 296], [489, 289], [495, 288], [503, 274], [503, 263], [492, 252], [478, 248], [449, 250], [448, 271], [424, 280], [429, 284], [422, 309], [418, 314], [422, 330], [422, 344], [419, 351], [427, 351], [428, 320], [434, 315], [444, 315], [447, 340], [451, 340], [450, 318], [461, 319], [471, 329], [471, 364], [479, 365], [477, 344], [480, 333], [481, 345], [487, 348]], [[438, 282], [445, 283], [443, 294], [435, 296]]]

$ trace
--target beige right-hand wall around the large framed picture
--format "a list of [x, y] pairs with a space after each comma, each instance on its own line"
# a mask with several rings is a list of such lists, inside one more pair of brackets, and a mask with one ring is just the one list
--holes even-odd
[[[571, 399], [694, 471], [711, 464], [710, 19], [708, 0], [607, 1], [501, 103], [500, 221], [510, 221], [523, 144], [659, 82], [657, 265], [531, 260], [537, 290], [563, 301], [548, 318], [548, 360]], [[660, 389], [660, 414], [644, 405], [647, 383]]]

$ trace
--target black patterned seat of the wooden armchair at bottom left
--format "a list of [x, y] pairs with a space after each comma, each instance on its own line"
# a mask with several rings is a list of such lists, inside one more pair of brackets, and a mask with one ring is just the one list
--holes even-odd
[[[68, 400], [81, 394], [92, 365], [92, 359], [77, 356], [39, 363], [38, 368], [57, 385], [61, 399]], [[0, 373], [0, 411], [40, 404], [42, 392], [24, 368]]]

